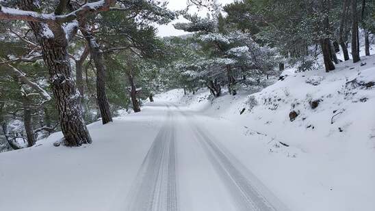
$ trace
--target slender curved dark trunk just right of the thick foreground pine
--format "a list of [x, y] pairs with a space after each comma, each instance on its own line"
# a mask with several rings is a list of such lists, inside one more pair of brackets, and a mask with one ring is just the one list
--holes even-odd
[[99, 104], [99, 110], [101, 111], [101, 121], [103, 124], [112, 122], [112, 114], [109, 109], [109, 102], [107, 94], [105, 93], [105, 73], [107, 72], [107, 67], [104, 64], [103, 51], [99, 44], [90, 31], [86, 30], [86, 25], [81, 24], [81, 33], [88, 42], [90, 48], [90, 55], [92, 60], [94, 60], [96, 68], [96, 98]]

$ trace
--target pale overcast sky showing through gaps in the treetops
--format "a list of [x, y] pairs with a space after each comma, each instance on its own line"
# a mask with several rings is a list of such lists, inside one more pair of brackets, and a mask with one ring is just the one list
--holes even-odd
[[[218, 0], [218, 1], [222, 5], [226, 5], [227, 3], [231, 3], [234, 0]], [[170, 10], [182, 10], [182, 9], [186, 8], [186, 0], [169, 0], [168, 8]], [[198, 10], [190, 10], [190, 12], [192, 12], [192, 13], [197, 12], [197, 11]], [[207, 12], [200, 12], [199, 14], [205, 15], [205, 13], [207, 13]], [[185, 31], [174, 29], [174, 27], [172, 25], [173, 23], [184, 22], [184, 21], [186, 21], [186, 20], [184, 20], [182, 17], [180, 17], [178, 20], [174, 20], [172, 23], [170, 23], [168, 25], [158, 26], [157, 27], [158, 28], [157, 35], [161, 36], [161, 37], [164, 37], [164, 36], [179, 36], [179, 35], [186, 34]]]

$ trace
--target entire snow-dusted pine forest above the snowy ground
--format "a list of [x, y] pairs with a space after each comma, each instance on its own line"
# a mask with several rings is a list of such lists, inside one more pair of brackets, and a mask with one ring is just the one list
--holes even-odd
[[[256, 90], [286, 66], [335, 70], [370, 55], [371, 0], [0, 1], [0, 152], [31, 147], [62, 130], [62, 144], [91, 143], [86, 124], [172, 88], [213, 97]], [[192, 14], [194, 6], [207, 16]], [[159, 38], [157, 27], [185, 36]], [[360, 46], [359, 40], [365, 40]], [[349, 48], [348, 48], [349, 46]], [[349, 50], [350, 49], [350, 50]], [[322, 55], [319, 57], [319, 55]], [[323, 58], [324, 64], [319, 64]], [[329, 73], [327, 73], [329, 74]], [[248, 91], [250, 92], [250, 91]], [[60, 143], [57, 143], [57, 145]]]

